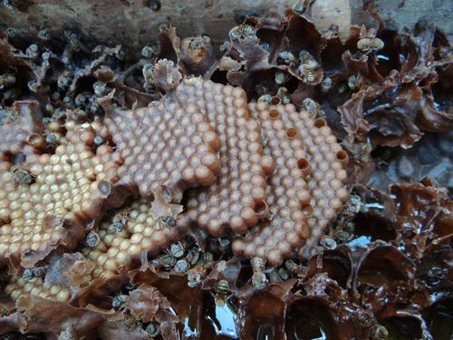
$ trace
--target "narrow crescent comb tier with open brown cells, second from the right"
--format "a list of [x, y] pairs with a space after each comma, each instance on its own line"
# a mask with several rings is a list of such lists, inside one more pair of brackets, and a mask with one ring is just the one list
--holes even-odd
[[275, 160], [275, 172], [268, 178], [269, 217], [247, 232], [246, 238], [237, 238], [233, 249], [236, 255], [266, 258], [278, 266], [310, 237], [306, 222], [313, 208], [305, 181], [310, 175], [310, 163], [304, 135], [281, 117], [284, 107], [254, 103], [249, 107], [261, 123], [265, 154]]

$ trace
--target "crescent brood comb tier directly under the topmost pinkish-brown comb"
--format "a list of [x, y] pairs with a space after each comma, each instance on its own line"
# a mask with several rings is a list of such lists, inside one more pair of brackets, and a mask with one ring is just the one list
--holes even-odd
[[249, 118], [246, 92], [201, 78], [183, 80], [176, 92], [180, 102], [206, 114], [222, 145], [217, 180], [188, 194], [188, 212], [178, 225], [197, 224], [214, 236], [226, 228], [244, 233], [263, 215], [265, 178], [275, 169], [264, 156], [259, 125]]

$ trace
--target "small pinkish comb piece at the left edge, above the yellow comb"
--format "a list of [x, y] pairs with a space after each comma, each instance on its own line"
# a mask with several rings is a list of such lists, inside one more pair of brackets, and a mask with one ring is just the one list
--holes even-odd
[[5, 153], [19, 153], [31, 134], [43, 132], [38, 102], [14, 102], [9, 113], [0, 121], [0, 159]]

